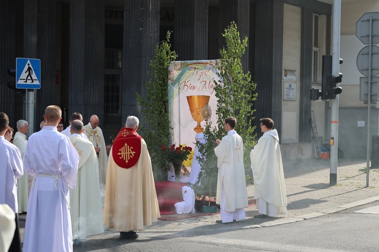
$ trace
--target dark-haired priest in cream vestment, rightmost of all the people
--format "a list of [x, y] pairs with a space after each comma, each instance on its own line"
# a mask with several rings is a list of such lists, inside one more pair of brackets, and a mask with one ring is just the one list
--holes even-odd
[[264, 133], [250, 152], [251, 169], [254, 179], [254, 199], [258, 212], [255, 217], [276, 217], [287, 214], [283, 163], [281, 160], [279, 136], [270, 118], [261, 119]]

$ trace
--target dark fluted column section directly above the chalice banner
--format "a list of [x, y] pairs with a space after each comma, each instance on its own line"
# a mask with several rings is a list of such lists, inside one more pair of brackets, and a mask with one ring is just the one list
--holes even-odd
[[177, 60], [208, 59], [209, 0], [175, 0]]

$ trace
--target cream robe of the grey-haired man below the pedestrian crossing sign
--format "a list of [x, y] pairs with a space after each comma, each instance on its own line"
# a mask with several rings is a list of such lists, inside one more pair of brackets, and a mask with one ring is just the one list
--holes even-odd
[[[13, 144], [20, 150], [21, 158], [24, 158], [24, 153], [28, 141], [26, 135], [21, 132], [14, 134]], [[18, 212], [26, 212], [28, 209], [29, 189], [28, 189], [28, 175], [25, 173], [17, 179], [17, 202]]]

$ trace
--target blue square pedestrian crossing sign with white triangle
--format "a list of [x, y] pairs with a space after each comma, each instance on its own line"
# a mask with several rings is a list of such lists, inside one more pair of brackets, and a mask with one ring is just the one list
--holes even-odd
[[16, 88], [41, 89], [41, 60], [16, 58]]

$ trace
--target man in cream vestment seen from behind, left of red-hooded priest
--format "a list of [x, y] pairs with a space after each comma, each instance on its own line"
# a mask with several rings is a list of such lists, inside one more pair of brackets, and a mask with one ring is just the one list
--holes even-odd
[[100, 195], [99, 163], [92, 143], [80, 136], [83, 123], [71, 123], [71, 143], [79, 153], [76, 187], [70, 189], [70, 213], [74, 245], [89, 235], [101, 234], [103, 205]]

